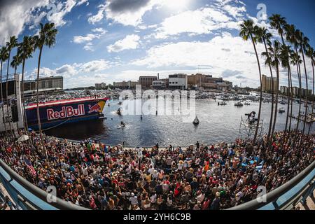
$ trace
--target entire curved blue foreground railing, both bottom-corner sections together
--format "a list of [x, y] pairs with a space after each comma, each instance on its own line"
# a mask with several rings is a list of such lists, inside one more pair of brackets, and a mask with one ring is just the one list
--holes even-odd
[[[288, 209], [291, 204], [295, 204], [301, 200], [301, 197], [307, 192], [314, 178], [315, 161], [293, 179], [267, 193], [267, 195], [265, 195], [265, 202], [252, 200], [251, 202], [240, 204], [228, 210]], [[5, 188], [10, 188], [15, 191], [15, 197], [22, 203], [22, 209], [86, 209], [60, 200], [59, 198], [57, 198], [56, 202], [48, 203], [47, 198], [50, 197], [48, 193], [34, 186], [32, 183], [29, 183], [29, 181], [13, 171], [13, 169], [0, 159], [0, 180], [1, 179]]]

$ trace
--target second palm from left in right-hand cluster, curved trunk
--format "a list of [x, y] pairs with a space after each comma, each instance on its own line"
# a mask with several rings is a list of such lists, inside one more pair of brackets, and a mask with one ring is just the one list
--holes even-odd
[[[273, 73], [272, 73], [271, 60], [270, 60], [269, 52], [268, 52], [268, 48], [267, 48], [267, 44], [271, 45], [270, 39], [272, 38], [272, 34], [270, 34], [269, 31], [265, 27], [263, 27], [263, 28], [258, 29], [257, 37], [258, 37], [258, 42], [264, 43], [264, 45], [265, 45], [266, 51], [262, 52], [262, 55], [267, 58], [265, 61], [265, 64], [269, 66], [270, 76], [271, 76], [272, 80], [274, 80]], [[270, 113], [269, 130], [268, 130], [268, 135], [267, 135], [268, 141], [270, 139], [270, 134], [271, 134], [271, 130], [272, 130], [273, 116], [274, 116], [274, 82], [272, 82], [272, 108], [271, 108], [271, 113]]]

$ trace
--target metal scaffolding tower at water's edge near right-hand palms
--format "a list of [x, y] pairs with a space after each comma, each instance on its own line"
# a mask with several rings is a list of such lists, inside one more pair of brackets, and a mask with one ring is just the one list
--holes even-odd
[[[253, 139], [253, 137], [255, 136], [257, 123], [258, 123], [257, 119], [251, 121], [241, 116], [241, 123], [239, 124], [239, 138]], [[257, 132], [258, 138], [262, 137], [263, 124], [264, 124], [264, 120], [260, 120], [259, 125], [258, 125], [258, 132]]]

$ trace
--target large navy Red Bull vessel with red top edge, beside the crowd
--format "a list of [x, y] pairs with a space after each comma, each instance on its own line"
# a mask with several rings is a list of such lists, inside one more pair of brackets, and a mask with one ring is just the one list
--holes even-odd
[[[96, 120], [104, 117], [103, 109], [107, 100], [109, 100], [107, 97], [83, 97], [39, 103], [41, 127], [47, 129], [66, 123]], [[29, 128], [38, 130], [37, 104], [25, 106], [25, 111]]]

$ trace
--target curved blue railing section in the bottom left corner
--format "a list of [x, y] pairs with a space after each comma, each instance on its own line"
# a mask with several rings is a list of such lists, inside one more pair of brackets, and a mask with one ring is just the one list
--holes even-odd
[[[79, 207], [76, 204], [65, 202], [59, 198], [56, 198], [55, 202], [47, 202], [51, 195], [29, 183], [22, 176], [17, 174], [13, 169], [6, 165], [3, 160], [0, 159], [0, 180], [3, 186], [8, 192], [13, 194], [15, 201], [18, 201], [18, 205], [22, 209], [43, 209], [43, 210], [85, 210], [83, 207]], [[10, 194], [9, 193], [9, 194]], [[12, 196], [12, 195], [11, 195]]]

